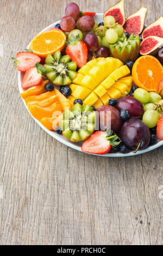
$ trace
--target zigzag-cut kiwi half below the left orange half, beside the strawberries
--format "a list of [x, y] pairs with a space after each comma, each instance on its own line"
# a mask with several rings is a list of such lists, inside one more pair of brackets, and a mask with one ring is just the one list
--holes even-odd
[[61, 52], [57, 51], [49, 54], [45, 60], [46, 75], [52, 83], [57, 86], [68, 86], [77, 75], [76, 62], [71, 62], [68, 55], [61, 56]]

